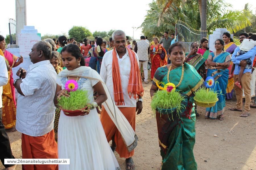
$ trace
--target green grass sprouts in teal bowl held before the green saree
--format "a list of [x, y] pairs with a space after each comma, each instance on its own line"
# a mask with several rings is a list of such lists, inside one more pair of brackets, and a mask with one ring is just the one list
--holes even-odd
[[[184, 99], [179, 92], [172, 90], [171, 92], [167, 92], [166, 90], [158, 90], [151, 101], [151, 109], [154, 113], [156, 112], [156, 108], [160, 111], [162, 109], [176, 109], [177, 114], [183, 109], [183, 105], [181, 101]], [[179, 115], [178, 115], [179, 116]], [[169, 118], [170, 119], [170, 118]]]

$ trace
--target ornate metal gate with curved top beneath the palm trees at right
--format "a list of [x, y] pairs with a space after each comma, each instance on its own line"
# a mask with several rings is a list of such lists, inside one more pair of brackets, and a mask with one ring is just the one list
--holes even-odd
[[176, 38], [185, 47], [185, 52], [190, 51], [190, 45], [193, 42], [200, 43], [202, 38], [207, 37], [207, 31], [193, 29], [183, 21], [177, 21], [175, 28], [177, 28]]

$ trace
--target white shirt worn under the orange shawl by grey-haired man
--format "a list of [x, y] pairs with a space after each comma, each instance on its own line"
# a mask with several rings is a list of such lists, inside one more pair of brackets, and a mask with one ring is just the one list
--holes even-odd
[[[122, 84], [122, 90], [123, 90], [123, 99], [124, 99], [125, 105], [118, 105], [117, 107], [136, 107], [137, 100], [134, 99], [133, 94], [130, 98], [127, 91], [129, 78], [130, 78], [130, 71], [131, 71], [131, 61], [130, 61], [130, 57], [128, 55], [127, 49], [125, 50], [126, 50], [126, 53], [122, 57], [122, 59], [119, 59], [119, 56], [117, 54], [121, 84]], [[135, 57], [139, 65], [139, 58], [136, 53], [135, 53]], [[113, 78], [112, 78], [112, 60], [113, 60], [113, 50], [110, 50], [106, 52], [103, 56], [102, 64], [100, 68], [100, 76], [103, 79], [103, 81], [106, 83], [112, 99], [115, 100], [114, 89], [113, 89]]]

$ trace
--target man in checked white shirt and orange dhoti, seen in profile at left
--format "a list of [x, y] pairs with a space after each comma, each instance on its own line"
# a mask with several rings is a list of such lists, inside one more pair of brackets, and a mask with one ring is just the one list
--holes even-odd
[[[39, 41], [29, 54], [32, 65], [17, 72], [21, 79], [14, 81], [17, 89], [16, 129], [22, 133], [23, 159], [56, 159], [57, 143], [54, 139], [53, 121], [57, 74], [49, 59], [52, 49], [49, 42]], [[22, 72], [21, 72], [22, 70]], [[22, 73], [22, 74], [21, 74]], [[24, 169], [51, 169], [57, 165], [23, 165]]]

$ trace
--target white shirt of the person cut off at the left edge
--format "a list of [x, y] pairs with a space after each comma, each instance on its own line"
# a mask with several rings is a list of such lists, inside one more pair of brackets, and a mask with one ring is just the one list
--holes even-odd
[[3, 107], [2, 103], [2, 94], [3, 94], [3, 86], [8, 83], [8, 71], [5, 63], [5, 58], [0, 56], [0, 108]]

